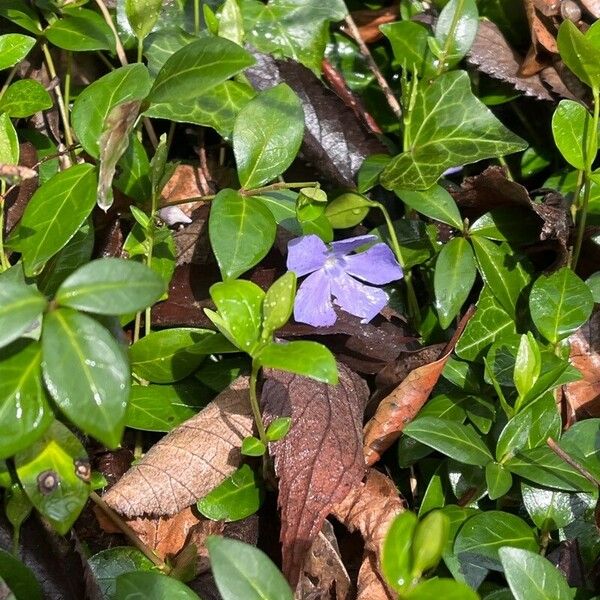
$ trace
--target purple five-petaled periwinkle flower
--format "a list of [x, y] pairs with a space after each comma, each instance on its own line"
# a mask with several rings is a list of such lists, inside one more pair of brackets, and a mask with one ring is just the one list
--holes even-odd
[[370, 321], [387, 304], [387, 294], [365, 285], [355, 278], [381, 285], [402, 277], [402, 268], [386, 244], [375, 244], [360, 254], [350, 254], [356, 248], [372, 242], [374, 235], [361, 235], [329, 248], [316, 235], [305, 235], [288, 244], [287, 268], [302, 282], [294, 303], [294, 319], [316, 327], [333, 325], [337, 318], [335, 303], [352, 315]]

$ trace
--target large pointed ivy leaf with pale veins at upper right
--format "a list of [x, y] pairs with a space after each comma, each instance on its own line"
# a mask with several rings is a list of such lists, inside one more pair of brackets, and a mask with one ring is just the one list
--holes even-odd
[[526, 147], [473, 95], [464, 71], [441, 75], [417, 96], [406, 135], [408, 148], [381, 174], [390, 190], [427, 189], [450, 167]]

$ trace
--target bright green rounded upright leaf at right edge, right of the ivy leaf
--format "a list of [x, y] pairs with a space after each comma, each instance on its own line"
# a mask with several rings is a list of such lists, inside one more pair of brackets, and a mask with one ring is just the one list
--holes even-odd
[[552, 116], [554, 143], [564, 159], [579, 170], [591, 169], [598, 152], [591, 142], [596, 142], [593, 133], [592, 115], [583, 104], [574, 100], [561, 100]]

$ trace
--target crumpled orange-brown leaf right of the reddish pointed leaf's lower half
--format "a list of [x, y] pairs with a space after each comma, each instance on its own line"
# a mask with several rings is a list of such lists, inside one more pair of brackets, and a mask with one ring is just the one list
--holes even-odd
[[365, 548], [379, 557], [392, 521], [405, 508], [394, 482], [383, 473], [370, 469], [366, 480], [334, 505], [331, 514], [350, 531], [360, 531]]

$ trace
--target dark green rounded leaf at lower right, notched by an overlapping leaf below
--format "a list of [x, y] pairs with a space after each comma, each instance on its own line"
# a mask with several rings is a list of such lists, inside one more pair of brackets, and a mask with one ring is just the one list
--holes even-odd
[[472, 516], [462, 526], [454, 542], [454, 553], [468, 562], [502, 570], [498, 551], [503, 546], [538, 551], [532, 528], [510, 513], [490, 510]]

